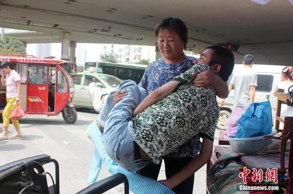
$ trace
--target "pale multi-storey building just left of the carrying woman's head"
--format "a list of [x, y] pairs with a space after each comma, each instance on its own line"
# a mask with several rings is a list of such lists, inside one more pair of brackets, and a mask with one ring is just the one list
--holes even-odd
[[142, 59], [151, 62], [156, 59], [155, 46], [125, 45], [116, 54], [118, 63], [137, 63]]

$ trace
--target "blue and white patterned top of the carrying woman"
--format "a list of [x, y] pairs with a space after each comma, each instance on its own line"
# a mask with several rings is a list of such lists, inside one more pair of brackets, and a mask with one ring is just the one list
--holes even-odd
[[[145, 74], [140, 82], [140, 86], [146, 88], [147, 93], [163, 86], [172, 81], [174, 77], [187, 71], [192, 65], [194, 57], [187, 57], [177, 64], [167, 64], [164, 58], [158, 59], [147, 65]], [[167, 157], [195, 157], [200, 151], [200, 137], [194, 136], [180, 148], [168, 153]]]

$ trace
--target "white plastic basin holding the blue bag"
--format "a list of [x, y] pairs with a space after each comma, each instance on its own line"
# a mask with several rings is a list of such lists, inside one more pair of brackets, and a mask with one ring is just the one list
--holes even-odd
[[[270, 136], [273, 136], [276, 134], [277, 131], [275, 129], [272, 129], [272, 133], [267, 134]], [[225, 140], [228, 140], [231, 146], [232, 151], [238, 152], [238, 153], [248, 153], [248, 154], [254, 154], [257, 151], [260, 151], [265, 146], [272, 143], [272, 139], [266, 139], [263, 140], [262, 138], [264, 136], [259, 137], [251, 137], [251, 138], [233, 138], [233, 137], [227, 137], [224, 136]]]

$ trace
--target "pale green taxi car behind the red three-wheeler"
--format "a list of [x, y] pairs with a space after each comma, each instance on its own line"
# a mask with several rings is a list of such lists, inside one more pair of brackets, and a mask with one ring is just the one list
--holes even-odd
[[104, 92], [109, 93], [118, 86], [122, 80], [103, 73], [97, 72], [81, 72], [73, 78], [74, 82], [74, 98], [72, 104], [76, 108], [93, 108], [93, 102], [88, 92], [88, 85], [95, 83], [95, 86], [100, 87]]

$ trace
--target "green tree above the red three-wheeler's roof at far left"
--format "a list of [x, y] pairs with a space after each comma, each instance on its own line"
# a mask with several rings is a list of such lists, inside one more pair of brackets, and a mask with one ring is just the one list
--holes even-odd
[[21, 41], [13, 36], [4, 35], [4, 38], [0, 39], [0, 53], [26, 54], [26, 51]]

